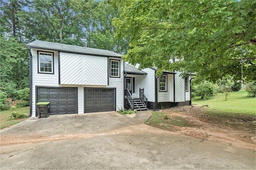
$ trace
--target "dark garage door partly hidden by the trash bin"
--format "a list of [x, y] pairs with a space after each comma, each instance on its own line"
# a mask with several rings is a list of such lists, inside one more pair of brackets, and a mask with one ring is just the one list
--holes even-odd
[[36, 87], [36, 103], [50, 102], [50, 115], [75, 114], [78, 111], [76, 87]]

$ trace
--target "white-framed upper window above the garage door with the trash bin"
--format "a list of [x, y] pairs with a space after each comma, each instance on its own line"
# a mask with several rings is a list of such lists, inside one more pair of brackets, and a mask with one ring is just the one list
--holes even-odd
[[54, 74], [53, 53], [38, 51], [38, 73]]

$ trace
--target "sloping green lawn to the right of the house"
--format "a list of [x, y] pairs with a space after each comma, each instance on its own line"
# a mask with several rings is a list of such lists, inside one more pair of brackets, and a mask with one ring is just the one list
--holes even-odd
[[246, 91], [230, 92], [227, 100], [224, 93], [218, 93], [213, 99], [192, 98], [192, 105], [209, 105], [214, 113], [235, 113], [256, 115], [256, 97], [247, 97]]

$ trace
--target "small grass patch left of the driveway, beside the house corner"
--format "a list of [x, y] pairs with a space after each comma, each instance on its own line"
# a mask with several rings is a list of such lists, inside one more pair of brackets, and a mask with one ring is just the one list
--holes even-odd
[[10, 109], [8, 111], [0, 111], [0, 129], [15, 125], [17, 123], [20, 123], [28, 119], [28, 118], [22, 118], [22, 119], [10, 118], [10, 115], [12, 115], [11, 112], [22, 113], [24, 115], [29, 116], [30, 109], [29, 107], [22, 107], [17, 109]]

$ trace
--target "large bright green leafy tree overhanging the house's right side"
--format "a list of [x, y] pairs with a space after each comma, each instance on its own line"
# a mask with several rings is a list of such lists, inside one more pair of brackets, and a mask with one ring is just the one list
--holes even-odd
[[[256, 79], [256, 2], [246, 0], [112, 1], [122, 6], [116, 35], [130, 37], [124, 59], [216, 81]], [[243, 54], [243, 56], [242, 56]], [[170, 62], [176, 61], [176, 62]]]

